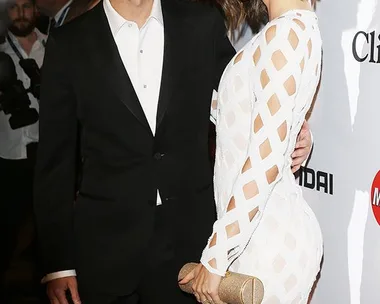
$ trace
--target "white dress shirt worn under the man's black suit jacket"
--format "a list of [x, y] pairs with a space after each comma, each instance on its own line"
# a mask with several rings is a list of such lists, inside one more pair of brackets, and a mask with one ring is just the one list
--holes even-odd
[[[141, 28], [120, 16], [109, 0], [104, 0], [103, 6], [124, 67], [155, 134], [164, 55], [161, 0], [153, 1], [150, 16]], [[160, 204], [157, 192], [157, 205]], [[74, 270], [59, 271], [46, 275], [43, 282], [75, 275]]]

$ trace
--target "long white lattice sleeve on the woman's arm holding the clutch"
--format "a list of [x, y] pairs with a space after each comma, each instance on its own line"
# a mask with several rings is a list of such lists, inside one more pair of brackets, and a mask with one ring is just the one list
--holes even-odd
[[[299, 20], [297, 20], [299, 21]], [[301, 24], [300, 24], [301, 23]], [[304, 66], [311, 56], [311, 39], [302, 22], [281, 18], [272, 22], [252, 45], [255, 86], [252, 131], [244, 165], [236, 177], [223, 216], [214, 223], [201, 263], [224, 276], [244, 250], [263, 216], [275, 184], [281, 179], [293, 121], [295, 98]]]

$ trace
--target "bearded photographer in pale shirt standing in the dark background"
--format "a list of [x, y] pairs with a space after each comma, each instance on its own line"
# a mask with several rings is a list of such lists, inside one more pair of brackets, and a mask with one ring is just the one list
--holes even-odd
[[[9, 267], [20, 228], [33, 210], [33, 170], [38, 142], [38, 115], [33, 109], [38, 111], [39, 108], [39, 67], [43, 62], [46, 39], [35, 28], [37, 12], [34, 0], [15, 0], [7, 10], [10, 23], [0, 52], [10, 56], [20, 82], [18, 87], [17, 83], [11, 83], [9, 88], [4, 84], [0, 87], [1, 279]], [[16, 75], [14, 78], [16, 81]], [[20, 87], [28, 93], [20, 94]], [[30, 105], [26, 105], [30, 108], [20, 111], [25, 99], [30, 101]], [[16, 109], [17, 115], [9, 114], [6, 108]], [[35, 112], [34, 120], [25, 115], [28, 111]], [[2, 283], [0, 285], [3, 286]]]

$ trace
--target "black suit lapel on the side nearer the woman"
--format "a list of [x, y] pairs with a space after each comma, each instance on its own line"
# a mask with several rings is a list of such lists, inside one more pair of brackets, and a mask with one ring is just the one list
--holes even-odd
[[164, 60], [161, 88], [158, 100], [156, 129], [159, 128], [171, 100], [173, 89], [181, 67], [181, 46], [185, 35], [183, 32], [183, 14], [177, 1], [161, 0], [164, 19]]

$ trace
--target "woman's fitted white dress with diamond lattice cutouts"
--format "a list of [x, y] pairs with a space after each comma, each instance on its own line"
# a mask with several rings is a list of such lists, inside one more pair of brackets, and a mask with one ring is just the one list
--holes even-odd
[[291, 172], [320, 68], [316, 15], [289, 11], [232, 59], [212, 104], [218, 220], [201, 261], [260, 278], [264, 304], [307, 303], [320, 269], [320, 227]]

